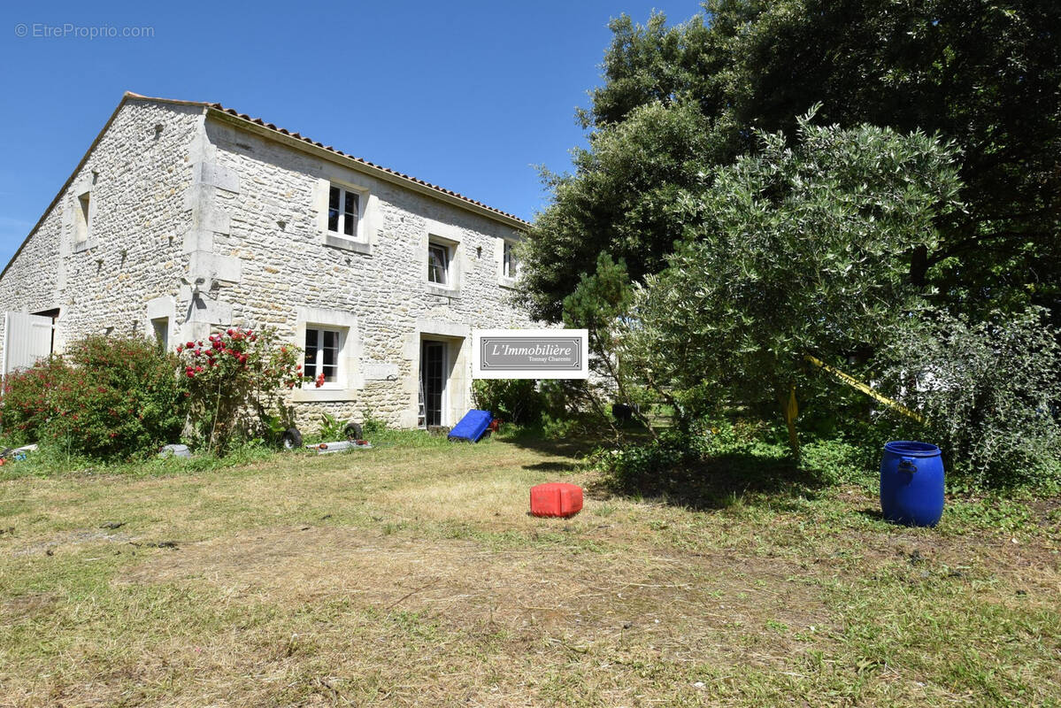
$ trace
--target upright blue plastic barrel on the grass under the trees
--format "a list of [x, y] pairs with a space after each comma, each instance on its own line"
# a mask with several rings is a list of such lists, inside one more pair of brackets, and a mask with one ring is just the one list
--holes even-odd
[[881, 460], [881, 511], [908, 526], [935, 526], [943, 515], [943, 461], [939, 448], [891, 441]]

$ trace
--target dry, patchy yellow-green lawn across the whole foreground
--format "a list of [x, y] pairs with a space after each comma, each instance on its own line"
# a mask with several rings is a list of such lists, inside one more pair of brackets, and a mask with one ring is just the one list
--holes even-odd
[[593, 488], [563, 448], [402, 439], [0, 482], [0, 706], [1061, 705], [1049, 507], [536, 519], [530, 485]]

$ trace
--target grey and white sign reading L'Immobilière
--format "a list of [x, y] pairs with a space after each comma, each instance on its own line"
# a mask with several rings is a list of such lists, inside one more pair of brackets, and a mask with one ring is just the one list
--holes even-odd
[[585, 329], [482, 329], [472, 334], [476, 379], [586, 379]]

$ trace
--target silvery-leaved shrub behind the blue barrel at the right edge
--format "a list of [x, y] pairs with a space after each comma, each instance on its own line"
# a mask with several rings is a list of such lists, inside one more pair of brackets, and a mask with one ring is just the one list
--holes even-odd
[[1009, 487], [1057, 480], [1061, 334], [1044, 322], [1034, 309], [978, 323], [939, 315], [910, 327], [885, 352], [882, 384], [927, 418], [912, 434], [942, 448], [952, 482]]

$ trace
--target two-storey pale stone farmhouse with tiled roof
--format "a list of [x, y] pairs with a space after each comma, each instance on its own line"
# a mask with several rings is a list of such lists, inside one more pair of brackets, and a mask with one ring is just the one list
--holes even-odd
[[219, 104], [125, 93], [0, 274], [2, 370], [90, 333], [175, 348], [275, 327], [320, 387], [299, 421], [472, 408], [471, 332], [508, 303], [520, 219]]

